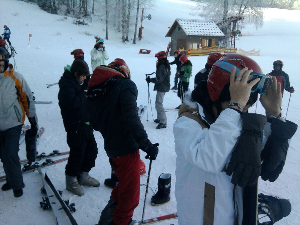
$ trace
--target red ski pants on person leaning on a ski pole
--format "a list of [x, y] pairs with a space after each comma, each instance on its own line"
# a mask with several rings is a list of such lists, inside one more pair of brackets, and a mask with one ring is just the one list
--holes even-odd
[[140, 150], [109, 160], [119, 179], [111, 193], [118, 203], [113, 211], [113, 221], [117, 225], [127, 225], [140, 201]]

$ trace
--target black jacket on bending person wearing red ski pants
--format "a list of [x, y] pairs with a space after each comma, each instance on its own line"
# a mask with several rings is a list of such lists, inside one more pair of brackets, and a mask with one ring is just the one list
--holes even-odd
[[129, 155], [151, 144], [137, 112], [137, 86], [133, 81], [111, 77], [90, 87], [87, 99], [91, 128], [101, 132], [109, 158]]

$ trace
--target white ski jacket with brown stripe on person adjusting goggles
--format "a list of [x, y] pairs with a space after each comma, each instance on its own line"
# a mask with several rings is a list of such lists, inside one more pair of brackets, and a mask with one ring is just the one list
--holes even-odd
[[[198, 107], [202, 120], [207, 121], [202, 116], [203, 108], [199, 104]], [[267, 122], [264, 129], [268, 137], [271, 133], [270, 123]], [[236, 186], [234, 202], [234, 184], [231, 183], [231, 176], [227, 176], [223, 170], [225, 165], [228, 166], [241, 130], [240, 114], [229, 108], [220, 113], [209, 129], [202, 128], [196, 120], [186, 116], [174, 123], [177, 154], [175, 196], [179, 224], [203, 224], [204, 208], [207, 207], [204, 205], [204, 195], [208, 196], [207, 193], [212, 190], [210, 185], [215, 187], [214, 204], [211, 206], [213, 224], [233, 225], [235, 212], [238, 212], [238, 224], [241, 224], [243, 188]], [[213, 202], [209, 198], [207, 200], [208, 203]]]

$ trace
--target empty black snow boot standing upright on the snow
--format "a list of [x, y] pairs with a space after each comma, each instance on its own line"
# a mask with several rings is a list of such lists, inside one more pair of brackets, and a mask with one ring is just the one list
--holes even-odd
[[151, 205], [162, 205], [170, 201], [171, 174], [162, 173], [158, 178], [158, 191], [151, 197]]

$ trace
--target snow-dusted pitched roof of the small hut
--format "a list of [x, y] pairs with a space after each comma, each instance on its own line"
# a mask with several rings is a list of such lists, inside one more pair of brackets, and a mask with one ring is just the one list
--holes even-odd
[[220, 28], [212, 20], [200, 19], [176, 19], [169, 29], [166, 37], [171, 37], [176, 24], [179, 24], [186, 35], [192, 36], [217, 36], [224, 37], [225, 35]]

